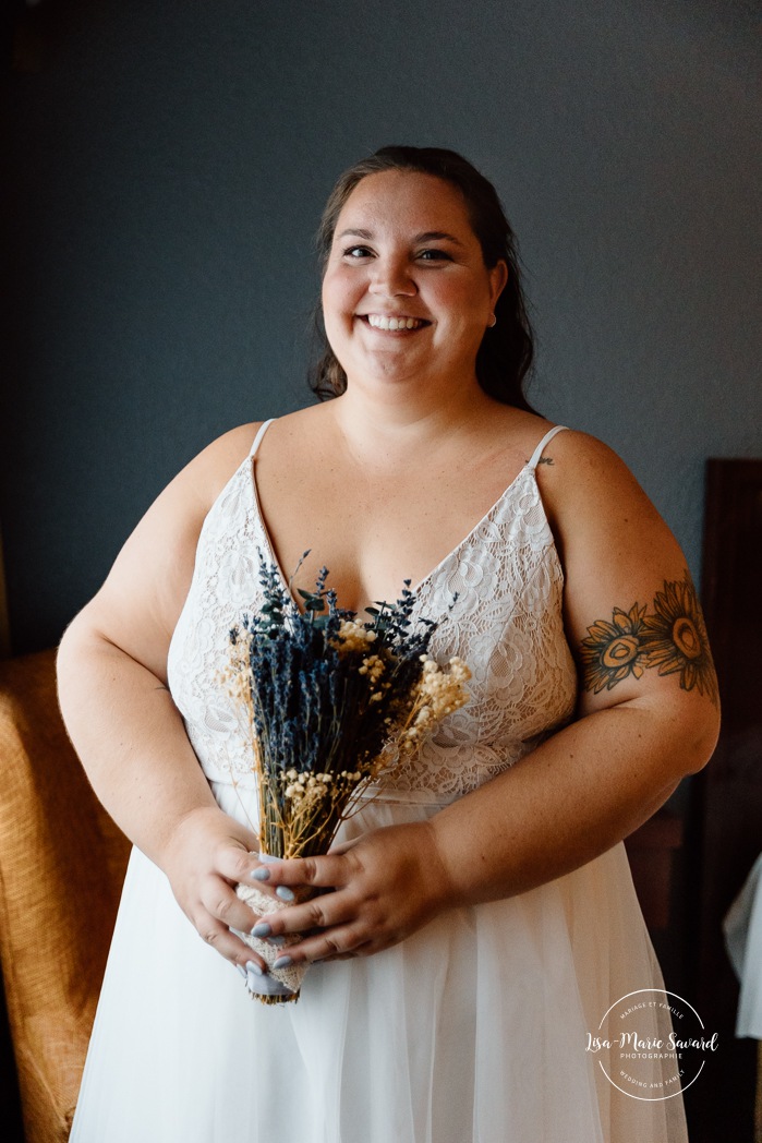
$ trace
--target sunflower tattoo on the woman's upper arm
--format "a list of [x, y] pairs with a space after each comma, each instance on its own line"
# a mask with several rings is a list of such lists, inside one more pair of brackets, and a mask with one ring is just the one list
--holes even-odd
[[682, 580], [664, 582], [653, 613], [633, 604], [628, 612], [615, 607], [611, 622], [596, 620], [580, 645], [585, 690], [611, 690], [631, 676], [656, 666], [659, 674], [680, 676], [683, 690], [696, 688], [717, 703], [717, 679], [701, 608], [688, 570]]

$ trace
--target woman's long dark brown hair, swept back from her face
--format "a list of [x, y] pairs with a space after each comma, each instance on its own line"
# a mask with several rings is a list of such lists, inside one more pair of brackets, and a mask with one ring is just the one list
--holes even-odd
[[[519, 251], [503, 206], [492, 184], [456, 151], [444, 147], [384, 146], [340, 175], [331, 191], [318, 230], [318, 250], [322, 269], [330, 255], [338, 216], [350, 194], [368, 175], [385, 170], [410, 170], [434, 175], [455, 186], [465, 199], [474, 234], [488, 269], [504, 259], [508, 280], [495, 306], [496, 325], [484, 331], [476, 354], [476, 377], [486, 393], [505, 405], [531, 409], [523, 393], [535, 353], [527, 303], [521, 289]], [[321, 322], [322, 307], [315, 310], [315, 333], [320, 360], [311, 370], [310, 384], [320, 400], [338, 397], [346, 389], [346, 374], [331, 350]]]

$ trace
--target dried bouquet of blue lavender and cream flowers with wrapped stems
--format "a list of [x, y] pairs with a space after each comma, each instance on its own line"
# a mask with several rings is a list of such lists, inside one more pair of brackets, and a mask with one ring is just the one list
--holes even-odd
[[[314, 591], [299, 591], [300, 608], [279, 569], [260, 560], [263, 604], [231, 631], [226, 682], [248, 712], [259, 848], [274, 858], [328, 853], [369, 786], [468, 700], [466, 664], [455, 657], [441, 666], [428, 654], [436, 624], [414, 618], [409, 581], [395, 604], [369, 607], [361, 622], [337, 606], [327, 580], [323, 568]], [[238, 893], [259, 913], [281, 908], [250, 886]], [[244, 940], [268, 964], [281, 953]], [[287, 994], [259, 999], [297, 999], [296, 974], [281, 980]]]

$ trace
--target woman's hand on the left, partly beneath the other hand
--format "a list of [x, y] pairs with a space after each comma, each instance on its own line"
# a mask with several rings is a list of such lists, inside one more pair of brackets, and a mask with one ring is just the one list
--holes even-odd
[[[220, 809], [204, 806], [179, 822], [160, 855], [177, 903], [202, 940], [256, 975], [257, 969], [264, 973], [267, 966], [231, 929], [250, 933], [258, 921], [235, 894], [239, 881], [257, 885], [252, 874], [259, 868], [266, 869], [250, 853], [257, 848], [250, 830]], [[262, 888], [274, 892], [274, 887]]]

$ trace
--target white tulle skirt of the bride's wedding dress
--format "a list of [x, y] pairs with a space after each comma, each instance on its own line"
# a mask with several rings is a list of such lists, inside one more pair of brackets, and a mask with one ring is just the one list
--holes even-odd
[[[232, 786], [212, 789], [244, 820]], [[435, 812], [371, 802], [344, 837]], [[680, 1096], [633, 1098], [588, 1050], [609, 1007], [649, 988], [663, 982], [621, 845], [375, 957], [315, 965], [276, 1006], [248, 996], [135, 850], [71, 1140], [684, 1143]], [[668, 1013], [641, 1026], [666, 1039]]]

